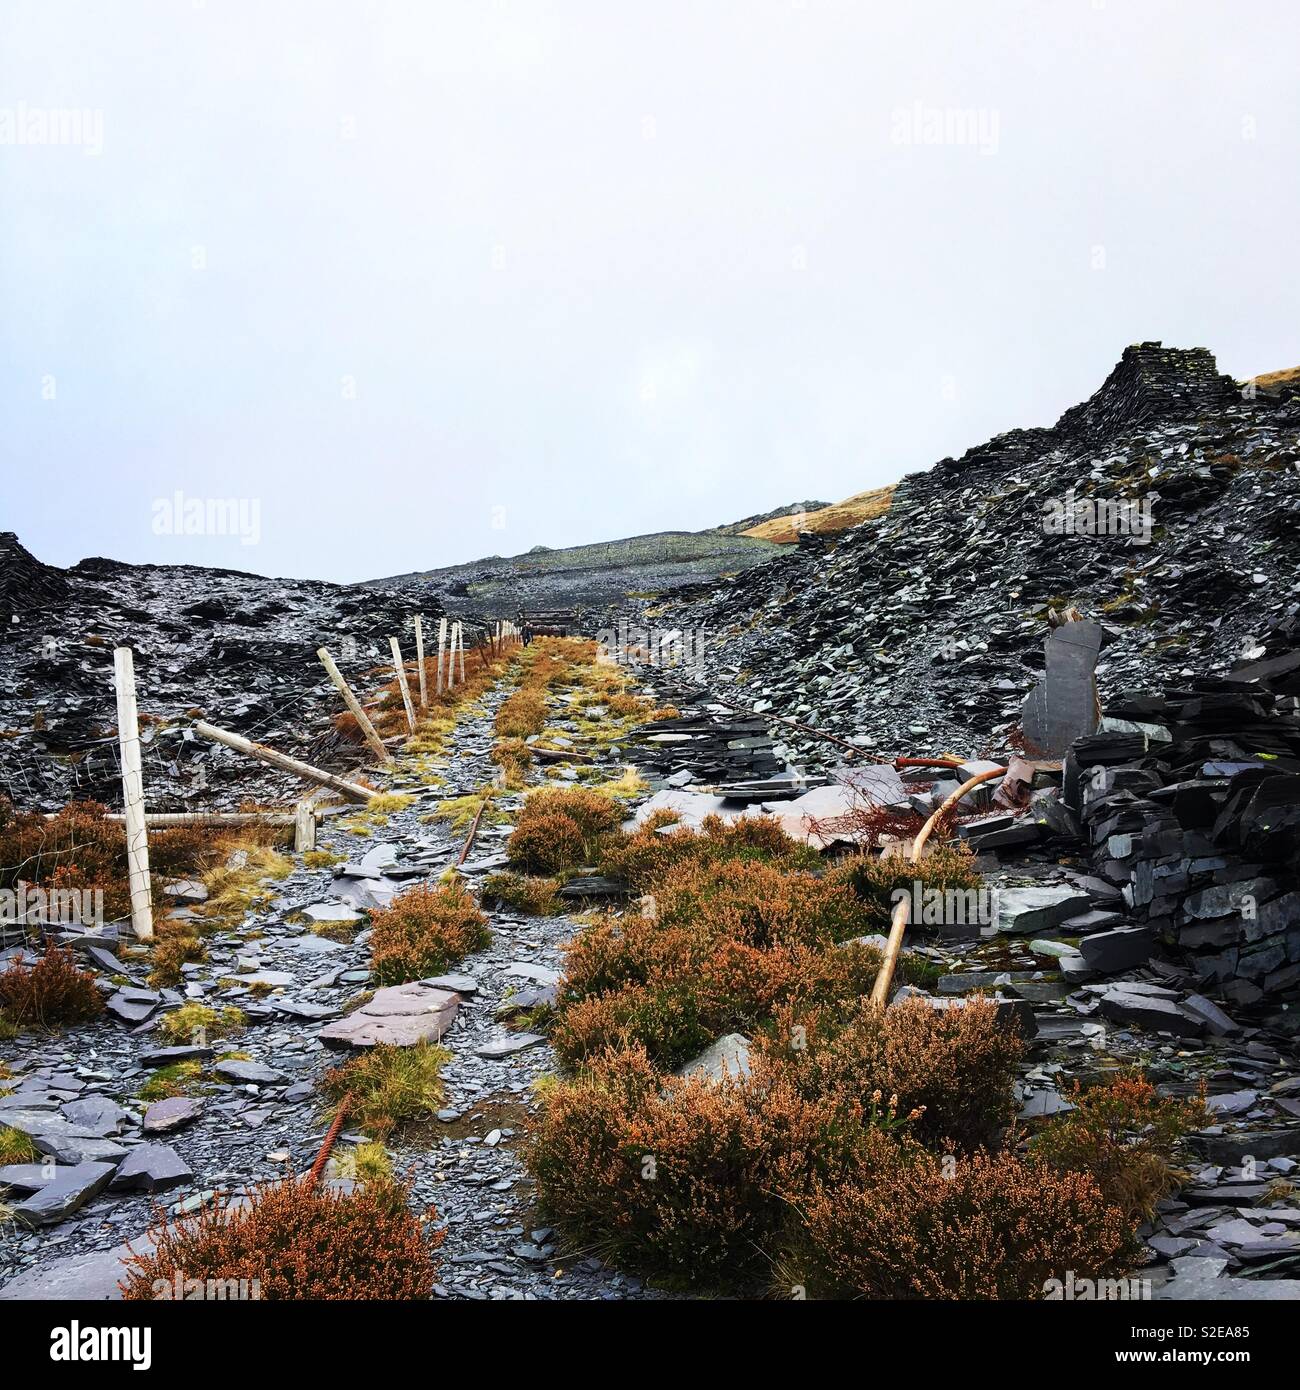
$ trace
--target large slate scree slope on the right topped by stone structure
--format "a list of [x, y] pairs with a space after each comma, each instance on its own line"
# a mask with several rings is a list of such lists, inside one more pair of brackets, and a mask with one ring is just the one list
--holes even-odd
[[[1047, 525], [1078, 502], [1148, 506], [1150, 531]], [[1053, 609], [1101, 624], [1105, 699], [1226, 673], [1300, 598], [1300, 395], [1243, 393], [1203, 349], [1141, 343], [1055, 427], [904, 478], [820, 550], [677, 591], [653, 621], [702, 637], [705, 682], [749, 708], [886, 752], [994, 749]]]

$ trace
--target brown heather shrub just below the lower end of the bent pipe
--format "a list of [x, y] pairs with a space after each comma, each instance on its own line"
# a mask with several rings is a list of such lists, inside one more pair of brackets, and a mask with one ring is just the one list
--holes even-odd
[[[790, 1048], [794, 1036], [804, 1045]], [[904, 1112], [922, 1111], [913, 1133], [932, 1147], [991, 1148], [1015, 1118], [1023, 1044], [987, 999], [959, 1009], [908, 999], [883, 1011], [855, 1001], [848, 1020], [795, 1005], [781, 1012], [770, 1037], [766, 1045], [788, 1054], [801, 1090], [895, 1095]]]

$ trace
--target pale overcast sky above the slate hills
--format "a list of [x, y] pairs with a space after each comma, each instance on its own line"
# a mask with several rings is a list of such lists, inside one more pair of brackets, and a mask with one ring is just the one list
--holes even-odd
[[355, 581], [1300, 364], [1294, 0], [0, 0], [0, 530]]

